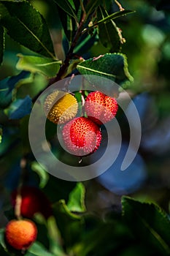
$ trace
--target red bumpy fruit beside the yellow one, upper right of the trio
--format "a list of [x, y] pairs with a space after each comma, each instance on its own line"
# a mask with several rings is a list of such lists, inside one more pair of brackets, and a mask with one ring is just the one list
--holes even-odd
[[117, 101], [113, 97], [103, 94], [101, 91], [93, 91], [85, 99], [85, 112], [96, 124], [106, 124], [117, 113]]

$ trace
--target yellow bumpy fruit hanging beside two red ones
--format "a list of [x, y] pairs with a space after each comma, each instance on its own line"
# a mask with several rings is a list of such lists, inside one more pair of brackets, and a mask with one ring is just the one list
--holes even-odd
[[55, 124], [63, 124], [77, 114], [77, 99], [64, 91], [53, 91], [45, 99], [45, 114]]

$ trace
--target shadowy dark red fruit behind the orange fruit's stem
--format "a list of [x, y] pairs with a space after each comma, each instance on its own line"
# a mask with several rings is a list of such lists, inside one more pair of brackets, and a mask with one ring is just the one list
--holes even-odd
[[[15, 206], [18, 191], [12, 192], [12, 205]], [[45, 219], [53, 214], [50, 201], [46, 195], [36, 187], [22, 187], [20, 189], [22, 197], [20, 214], [23, 217], [32, 219], [34, 214], [41, 213]]]

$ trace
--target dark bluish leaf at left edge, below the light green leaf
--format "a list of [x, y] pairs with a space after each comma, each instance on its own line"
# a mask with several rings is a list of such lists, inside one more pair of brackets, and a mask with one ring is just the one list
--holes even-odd
[[29, 72], [20, 72], [9, 78], [0, 81], [0, 108], [7, 108], [12, 102], [13, 89], [20, 83], [20, 80], [26, 79], [30, 76]]

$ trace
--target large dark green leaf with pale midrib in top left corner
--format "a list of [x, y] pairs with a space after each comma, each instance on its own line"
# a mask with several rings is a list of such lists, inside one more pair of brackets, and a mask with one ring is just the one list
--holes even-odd
[[28, 1], [1, 0], [0, 16], [2, 26], [12, 39], [36, 53], [55, 59], [45, 19]]

